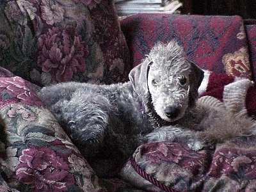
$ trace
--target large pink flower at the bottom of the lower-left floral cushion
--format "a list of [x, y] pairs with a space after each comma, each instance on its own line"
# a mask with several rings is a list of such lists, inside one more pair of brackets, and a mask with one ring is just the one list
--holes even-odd
[[31, 146], [22, 151], [19, 160], [17, 178], [34, 191], [65, 191], [74, 184], [68, 164], [47, 147]]

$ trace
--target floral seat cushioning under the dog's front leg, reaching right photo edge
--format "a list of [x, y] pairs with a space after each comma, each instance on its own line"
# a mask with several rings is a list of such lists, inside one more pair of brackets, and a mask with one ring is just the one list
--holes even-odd
[[179, 143], [138, 147], [122, 177], [149, 191], [255, 191], [256, 136], [195, 152]]

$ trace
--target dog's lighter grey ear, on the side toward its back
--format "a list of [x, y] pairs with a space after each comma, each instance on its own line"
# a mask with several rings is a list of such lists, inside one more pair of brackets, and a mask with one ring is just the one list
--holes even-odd
[[129, 73], [129, 79], [132, 84], [132, 88], [134, 92], [139, 95], [141, 100], [145, 102], [145, 106], [147, 106], [147, 102], [149, 100], [150, 94], [148, 92], [148, 70], [150, 67], [151, 61], [146, 58], [140, 65], [132, 68]]

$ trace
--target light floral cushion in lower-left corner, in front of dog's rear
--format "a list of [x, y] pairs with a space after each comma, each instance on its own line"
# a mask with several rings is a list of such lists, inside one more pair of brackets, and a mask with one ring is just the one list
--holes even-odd
[[104, 191], [29, 84], [0, 77], [0, 191]]

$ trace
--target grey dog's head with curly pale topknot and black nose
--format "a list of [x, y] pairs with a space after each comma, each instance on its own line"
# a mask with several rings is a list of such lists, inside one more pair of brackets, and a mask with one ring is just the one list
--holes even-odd
[[145, 104], [146, 112], [167, 122], [184, 116], [195, 106], [204, 72], [186, 59], [176, 42], [156, 44], [147, 58], [129, 74], [134, 91]]

